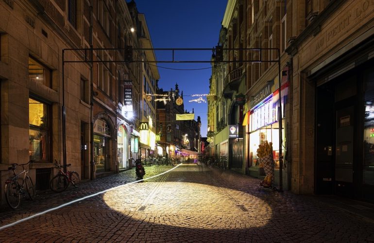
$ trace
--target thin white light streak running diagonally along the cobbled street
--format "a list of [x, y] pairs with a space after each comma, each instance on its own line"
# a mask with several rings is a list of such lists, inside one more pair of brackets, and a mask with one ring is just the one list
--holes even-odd
[[19, 224], [19, 223], [25, 222], [25, 221], [30, 220], [30, 219], [32, 219], [32, 218], [35, 218], [35, 217], [37, 217], [37, 216], [40, 216], [40, 215], [46, 214], [46, 213], [48, 213], [48, 212], [54, 211], [54, 210], [59, 209], [59, 208], [63, 208], [63, 207], [65, 207], [65, 206], [68, 206], [68, 205], [73, 204], [73, 203], [76, 203], [76, 202], [83, 201], [83, 200], [85, 200], [85, 199], [87, 199], [87, 198], [90, 198], [90, 197], [94, 197], [94, 196], [100, 195], [100, 194], [105, 193], [105, 192], [107, 192], [107, 191], [112, 191], [112, 190], [118, 189], [118, 188], [123, 187], [123, 186], [126, 186], [126, 185], [131, 185], [131, 184], [134, 184], [134, 183], [139, 182], [139, 181], [149, 180], [149, 179], [152, 179], [152, 178], [154, 178], [154, 177], [157, 177], [157, 176], [160, 176], [160, 175], [166, 174], [166, 173], [168, 173], [168, 172], [174, 170], [175, 168], [177, 168], [177, 167], [180, 166], [180, 165], [182, 165], [182, 163], [178, 164], [178, 165], [175, 166], [174, 168], [171, 168], [169, 171], [163, 172], [163, 173], [161, 173], [161, 174], [156, 174], [156, 175], [153, 175], [153, 176], [151, 176], [151, 177], [149, 177], [149, 178], [145, 178], [145, 179], [141, 179], [141, 180], [137, 180], [137, 181], [129, 182], [129, 183], [126, 183], [126, 184], [123, 184], [123, 185], [119, 185], [119, 186], [117, 186], [117, 187], [112, 187], [112, 188], [106, 189], [106, 190], [104, 190], [104, 191], [99, 191], [99, 192], [96, 192], [96, 193], [94, 193], [94, 194], [91, 194], [91, 195], [88, 195], [88, 196], [85, 196], [85, 197], [82, 197], [82, 198], [79, 198], [79, 199], [75, 199], [75, 200], [73, 200], [73, 201], [71, 201], [71, 202], [64, 203], [64, 204], [62, 204], [62, 205], [60, 205], [60, 206], [57, 206], [57, 207], [55, 207], [55, 208], [50, 208], [50, 209], [48, 209], [48, 210], [45, 210], [45, 211], [42, 211], [42, 212], [36, 213], [36, 214], [31, 215], [31, 216], [29, 216], [29, 217], [27, 217], [27, 218], [17, 220], [16, 222], [13, 222], [13, 223], [11, 223], [11, 224], [1, 226], [1, 227], [0, 227], [0, 230], [6, 229], [6, 228], [11, 227], [11, 226], [15, 226], [15, 225], [17, 225], [17, 224]]

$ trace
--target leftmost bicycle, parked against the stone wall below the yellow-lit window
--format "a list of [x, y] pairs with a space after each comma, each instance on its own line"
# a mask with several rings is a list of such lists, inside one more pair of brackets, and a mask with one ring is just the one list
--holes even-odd
[[[26, 164], [12, 164], [11, 167], [8, 167], [8, 170], [13, 171], [13, 176], [5, 181], [5, 199], [9, 207], [12, 209], [17, 209], [21, 203], [21, 195], [23, 197], [29, 196], [31, 200], [35, 197], [35, 188], [33, 181], [31, 180], [29, 171], [25, 169], [25, 165], [33, 163], [33, 160], [30, 160]], [[16, 167], [22, 166], [22, 172], [16, 174]]]

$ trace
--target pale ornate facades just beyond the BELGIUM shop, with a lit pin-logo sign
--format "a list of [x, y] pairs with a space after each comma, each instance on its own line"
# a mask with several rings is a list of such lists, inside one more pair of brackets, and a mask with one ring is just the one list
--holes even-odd
[[[222, 167], [243, 169], [243, 105], [246, 92], [245, 63], [243, 60], [246, 39], [245, 1], [228, 1], [222, 20], [218, 44], [222, 53], [212, 56], [212, 77], [208, 99], [208, 133], [211, 156]], [[234, 50], [236, 49], [236, 50]], [[219, 56], [217, 56], [219, 55]], [[221, 61], [234, 61], [222, 63]], [[233, 131], [233, 132], [232, 132]]]

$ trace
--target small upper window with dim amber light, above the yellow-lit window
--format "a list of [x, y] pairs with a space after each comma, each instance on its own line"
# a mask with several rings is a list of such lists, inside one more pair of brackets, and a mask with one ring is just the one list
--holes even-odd
[[47, 87], [51, 87], [52, 71], [33, 57], [29, 57], [29, 78]]

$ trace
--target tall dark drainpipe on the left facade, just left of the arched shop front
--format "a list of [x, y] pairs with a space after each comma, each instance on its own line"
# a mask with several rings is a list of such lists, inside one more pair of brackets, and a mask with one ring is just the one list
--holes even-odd
[[92, 15], [93, 15], [93, 3], [92, 0], [90, 0], [90, 12], [89, 12], [89, 47], [90, 47], [90, 56], [91, 56], [91, 64], [90, 64], [90, 146], [91, 146], [91, 162], [90, 162], [90, 167], [91, 167], [91, 176], [90, 179], [93, 180], [95, 177], [95, 161], [94, 161], [94, 148], [93, 148], [93, 24], [92, 24]]

